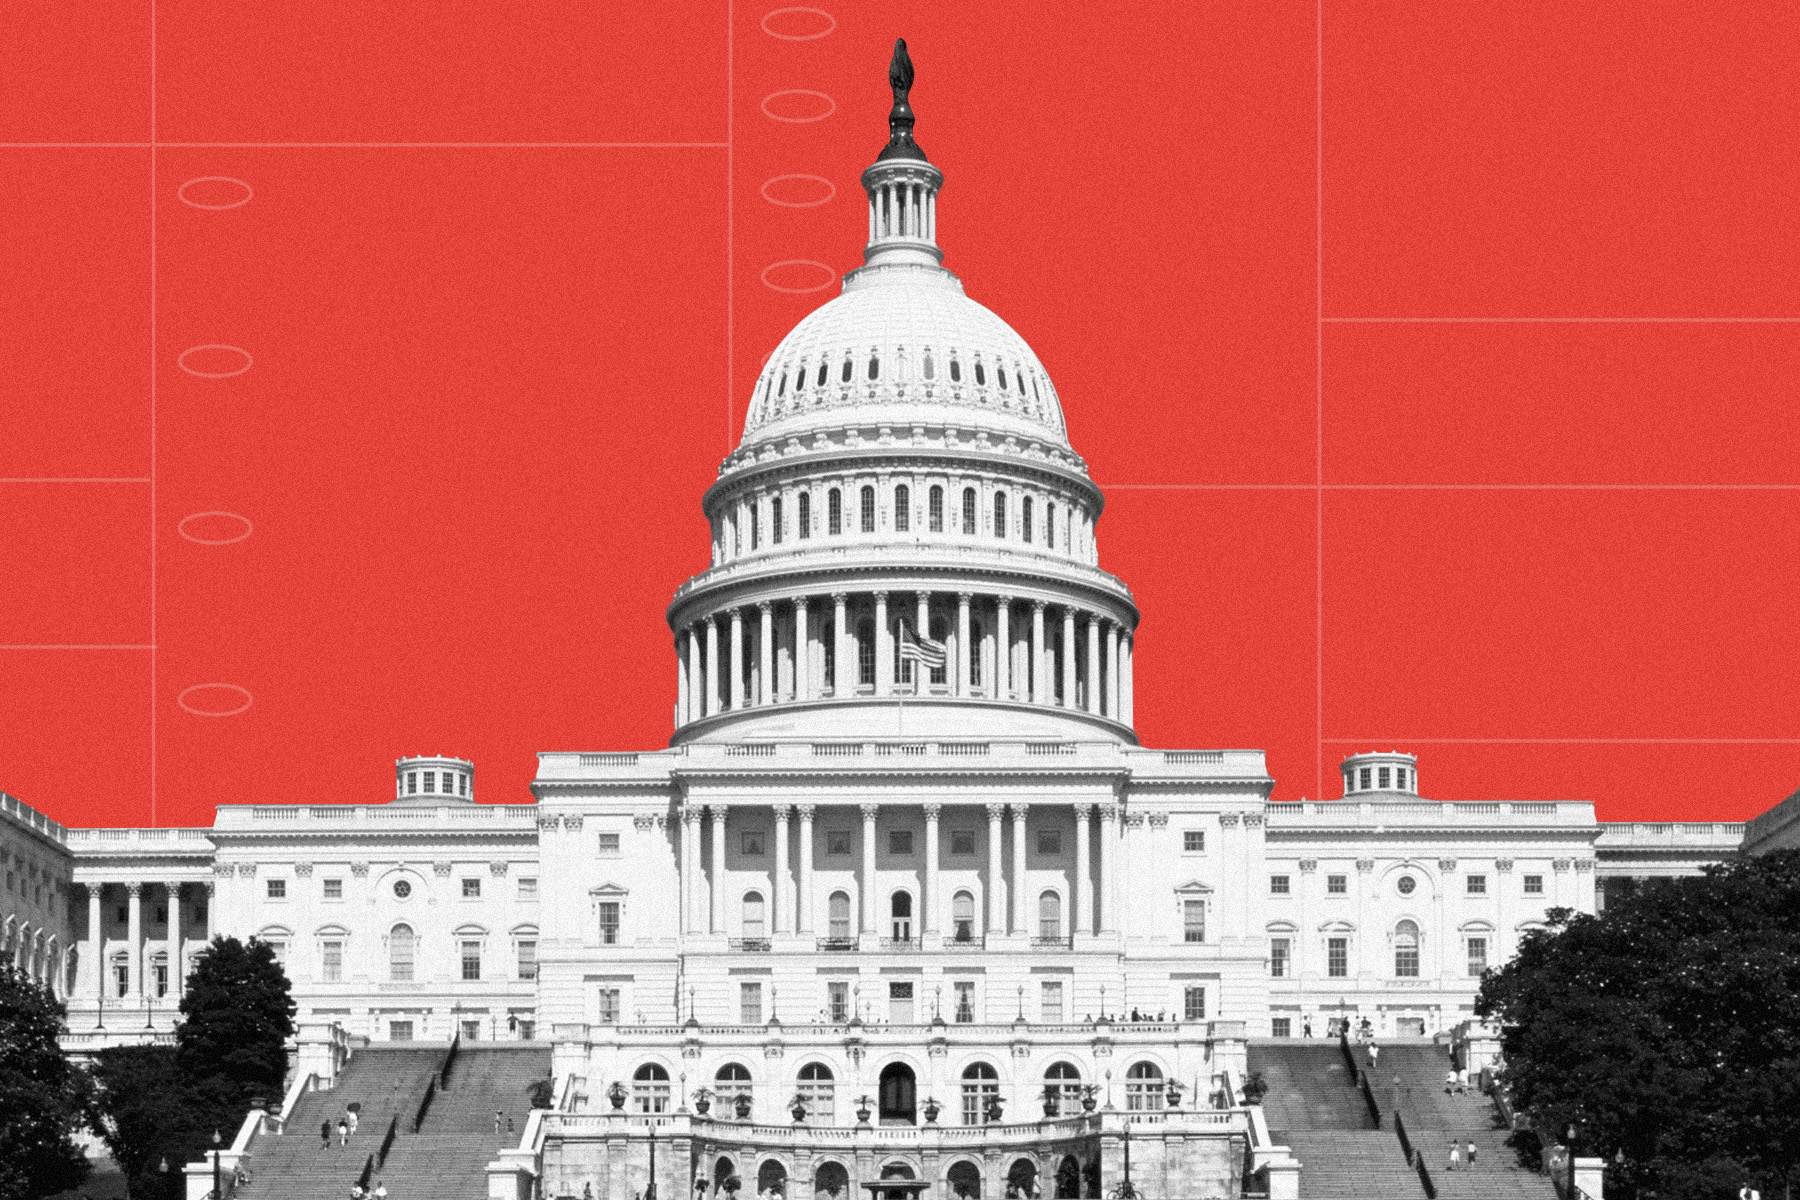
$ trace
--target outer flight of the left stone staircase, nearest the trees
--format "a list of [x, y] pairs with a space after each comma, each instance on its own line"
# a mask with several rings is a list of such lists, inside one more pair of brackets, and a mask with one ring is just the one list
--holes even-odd
[[[389, 1119], [398, 1115], [403, 1128], [410, 1126], [443, 1056], [443, 1045], [371, 1045], [356, 1051], [333, 1090], [308, 1092], [299, 1099], [286, 1133], [256, 1139], [250, 1182], [236, 1195], [243, 1200], [344, 1200], [362, 1175], [362, 1164], [382, 1146]], [[338, 1148], [337, 1123], [353, 1103], [362, 1105], [356, 1133], [349, 1146]], [[320, 1121], [331, 1123], [328, 1146], [319, 1142]]]

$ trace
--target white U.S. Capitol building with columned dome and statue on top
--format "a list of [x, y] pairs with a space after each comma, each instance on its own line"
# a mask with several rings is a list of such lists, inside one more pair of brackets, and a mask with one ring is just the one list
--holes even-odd
[[209, 829], [9, 808], [7, 900], [27, 858], [52, 900], [7, 946], [72, 1047], [167, 1029], [205, 937], [256, 936], [302, 1065], [331, 1038], [549, 1042], [542, 1195], [641, 1191], [650, 1128], [662, 1196], [679, 1144], [801, 1193], [878, 1169], [999, 1195], [1024, 1153], [1044, 1195], [1094, 1195], [1125, 1128], [1152, 1195], [1237, 1195], [1247, 1038], [1453, 1031], [1546, 909], [1735, 853], [1742, 826], [1433, 801], [1402, 752], [1271, 802], [1260, 750], [1141, 747], [1102, 491], [1037, 354], [941, 266], [909, 83], [900, 58], [866, 261], [769, 356], [702, 500], [668, 748], [540, 754], [529, 804], [409, 757], [392, 799]]

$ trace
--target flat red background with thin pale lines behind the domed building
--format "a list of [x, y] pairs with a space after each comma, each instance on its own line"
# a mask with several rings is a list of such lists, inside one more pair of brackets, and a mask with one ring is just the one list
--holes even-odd
[[0, 788], [202, 824], [662, 745], [700, 493], [832, 295], [763, 268], [859, 261], [896, 34], [947, 264], [1109, 489], [1148, 745], [1800, 784], [1793, 5], [776, 7], [13, 7]]

